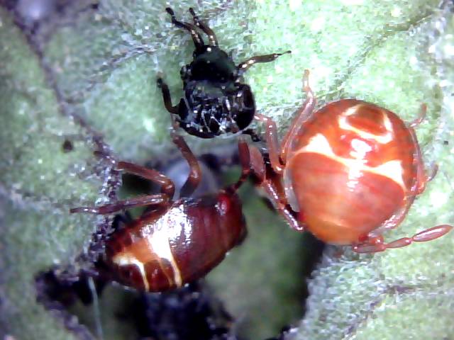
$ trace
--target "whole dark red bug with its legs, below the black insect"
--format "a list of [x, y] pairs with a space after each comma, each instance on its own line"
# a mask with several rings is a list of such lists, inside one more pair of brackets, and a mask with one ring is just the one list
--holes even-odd
[[181, 198], [172, 200], [174, 183], [158, 171], [118, 162], [117, 169], [160, 184], [161, 193], [71, 210], [111, 214], [135, 206], [148, 207], [137, 220], [109, 236], [101, 259], [107, 266], [106, 277], [138, 290], [169, 290], [201, 278], [221, 262], [246, 233], [240, 199], [236, 195], [250, 170], [246, 143], [243, 140], [238, 143], [243, 172], [236, 183], [215, 194], [190, 198], [201, 179], [200, 167], [183, 138], [175, 134], [172, 137], [191, 169], [181, 189]]

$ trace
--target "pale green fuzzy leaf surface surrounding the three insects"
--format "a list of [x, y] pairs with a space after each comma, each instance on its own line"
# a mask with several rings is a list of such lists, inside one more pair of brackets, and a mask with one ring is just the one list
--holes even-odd
[[[43, 55], [34, 52], [11, 13], [0, 10], [0, 326], [5, 334], [72, 339], [35, 302], [33, 282], [39, 271], [72, 263], [89, 244], [96, 218], [68, 210], [105, 199], [107, 176], [92, 155], [94, 137], [102, 136], [119, 159], [138, 164], [175, 152], [155, 80], [162, 75], [177, 103], [179, 68], [191, 60], [193, 46], [187, 33], [170, 24], [165, 6], [186, 20], [189, 6], [209, 18], [221, 47], [232, 50], [236, 62], [292, 50], [246, 75], [258, 110], [275, 118], [279, 132], [288, 128], [302, 101], [304, 69], [311, 72], [320, 106], [353, 97], [409, 121], [426, 103], [427, 119], [417, 135], [426, 164], [437, 162], [440, 169], [406, 220], [385, 238], [454, 223], [451, 1], [111, 0], [100, 1], [97, 9], [82, 2], [63, 17], [50, 16], [38, 30], [35, 44]], [[62, 148], [67, 139], [74, 145], [71, 152]], [[196, 153], [234, 143], [187, 140]], [[245, 205], [251, 232], [242, 246], [249, 250], [233, 250], [207, 281], [246, 339], [275, 336], [290, 322], [294, 329], [287, 339], [454, 339], [453, 233], [375, 255], [328, 246], [311, 276], [309, 298], [302, 301], [306, 237], [288, 230], [258, 199], [245, 198]], [[106, 339], [128, 339], [125, 334], [117, 331]]]

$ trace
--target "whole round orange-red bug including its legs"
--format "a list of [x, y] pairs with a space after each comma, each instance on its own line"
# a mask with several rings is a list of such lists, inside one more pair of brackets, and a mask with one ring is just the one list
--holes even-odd
[[414, 198], [423, 192], [424, 170], [414, 126], [372, 103], [342, 99], [314, 112], [316, 99], [304, 74], [307, 98], [277, 145], [275, 123], [265, 123], [270, 162], [250, 147], [253, 171], [287, 222], [330, 244], [351, 244], [354, 251], [375, 252], [411, 242], [426, 242], [453, 227], [439, 225], [413, 237], [385, 244], [382, 232], [402, 222]]

